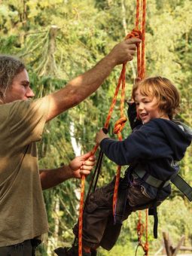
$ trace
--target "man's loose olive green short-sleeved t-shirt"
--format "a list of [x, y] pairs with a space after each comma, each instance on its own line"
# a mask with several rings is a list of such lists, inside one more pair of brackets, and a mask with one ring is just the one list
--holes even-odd
[[35, 142], [48, 98], [0, 105], [0, 247], [47, 233]]

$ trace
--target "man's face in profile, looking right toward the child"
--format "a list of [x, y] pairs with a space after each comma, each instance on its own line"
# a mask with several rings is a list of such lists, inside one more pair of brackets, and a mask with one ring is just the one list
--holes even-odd
[[5, 93], [5, 103], [14, 102], [15, 100], [27, 100], [34, 97], [29, 84], [29, 76], [26, 69], [17, 74], [11, 84], [11, 87]]

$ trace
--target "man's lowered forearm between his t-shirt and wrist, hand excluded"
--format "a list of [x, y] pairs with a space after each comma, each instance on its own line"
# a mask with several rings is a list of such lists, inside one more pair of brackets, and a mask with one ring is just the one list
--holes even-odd
[[40, 169], [39, 172], [43, 190], [54, 187], [73, 177], [69, 166], [62, 166], [56, 169]]

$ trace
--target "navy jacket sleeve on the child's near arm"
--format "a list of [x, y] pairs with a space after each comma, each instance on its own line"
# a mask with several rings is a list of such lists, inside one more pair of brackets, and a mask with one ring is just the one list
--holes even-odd
[[117, 165], [124, 166], [136, 160], [151, 159], [154, 153], [151, 150], [148, 135], [138, 130], [122, 142], [113, 139], [103, 139], [100, 148], [110, 160]]

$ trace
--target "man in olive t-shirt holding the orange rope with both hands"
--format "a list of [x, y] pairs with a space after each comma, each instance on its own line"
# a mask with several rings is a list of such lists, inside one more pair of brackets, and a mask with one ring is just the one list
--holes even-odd
[[11, 56], [0, 56], [0, 255], [35, 255], [37, 241], [47, 233], [42, 189], [68, 178], [81, 178], [93, 168], [90, 152], [68, 166], [39, 170], [35, 142], [44, 124], [90, 96], [114, 66], [133, 59], [132, 38], [117, 44], [93, 69], [61, 90], [41, 99], [34, 96], [26, 67]]

